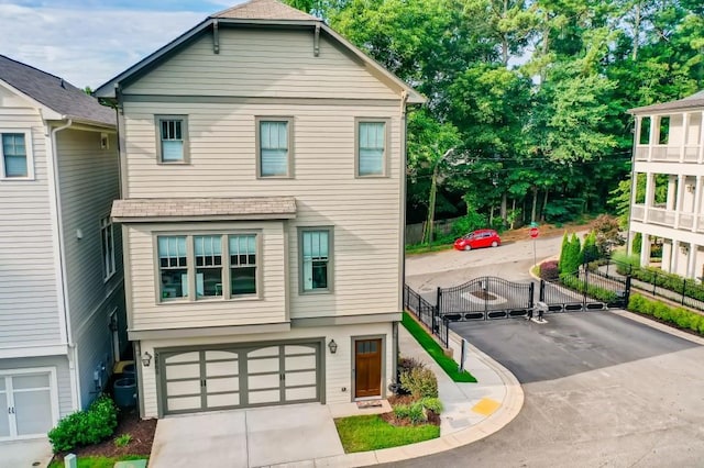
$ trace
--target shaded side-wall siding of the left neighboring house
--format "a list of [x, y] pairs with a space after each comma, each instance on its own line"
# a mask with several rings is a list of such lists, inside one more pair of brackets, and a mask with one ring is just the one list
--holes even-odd
[[[101, 149], [100, 132], [70, 129], [56, 140], [68, 304], [76, 330], [98, 313], [112, 290], [122, 288], [120, 226], [113, 226], [116, 274], [107, 282], [100, 236], [100, 219], [110, 215], [112, 200], [120, 197], [118, 142], [111, 134], [109, 148]], [[107, 337], [108, 332], [102, 331]]]

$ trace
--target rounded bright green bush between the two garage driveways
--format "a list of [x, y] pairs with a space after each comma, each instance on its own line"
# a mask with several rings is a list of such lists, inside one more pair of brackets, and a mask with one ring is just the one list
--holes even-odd
[[54, 453], [97, 444], [118, 426], [118, 409], [110, 397], [99, 397], [86, 411], [69, 414], [48, 432]]

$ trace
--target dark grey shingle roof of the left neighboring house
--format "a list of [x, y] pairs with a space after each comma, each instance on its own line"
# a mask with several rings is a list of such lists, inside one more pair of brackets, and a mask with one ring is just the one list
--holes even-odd
[[0, 55], [0, 80], [68, 118], [116, 125], [114, 111], [64, 79]]

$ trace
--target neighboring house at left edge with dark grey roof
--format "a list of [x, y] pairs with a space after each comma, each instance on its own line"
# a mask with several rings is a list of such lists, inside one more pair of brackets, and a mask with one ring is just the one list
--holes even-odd
[[[116, 112], [0, 56], [0, 441], [46, 437], [127, 345]], [[120, 328], [123, 330], [120, 333]], [[0, 443], [0, 453], [2, 446]]]

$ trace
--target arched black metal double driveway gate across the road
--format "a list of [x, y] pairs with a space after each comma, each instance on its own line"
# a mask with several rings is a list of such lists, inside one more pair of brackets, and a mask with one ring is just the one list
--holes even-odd
[[532, 282], [476, 278], [453, 288], [438, 288], [438, 311], [449, 321], [525, 316], [534, 308]]

